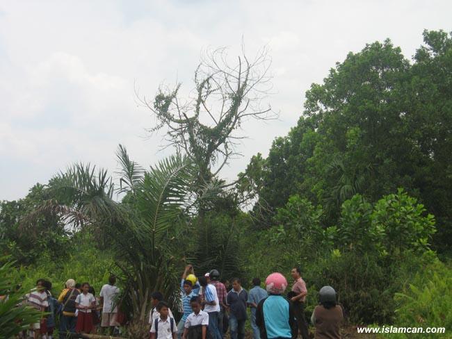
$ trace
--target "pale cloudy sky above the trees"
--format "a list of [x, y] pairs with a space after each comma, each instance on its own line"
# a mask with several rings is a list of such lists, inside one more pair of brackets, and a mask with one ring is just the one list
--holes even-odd
[[193, 89], [209, 49], [268, 47], [279, 119], [248, 121], [222, 176], [234, 179], [302, 115], [305, 92], [336, 62], [390, 38], [406, 58], [423, 29], [452, 31], [452, 1], [0, 0], [0, 200], [24, 197], [76, 162], [118, 170], [127, 147], [143, 167], [171, 153], [137, 103], [159, 85]]

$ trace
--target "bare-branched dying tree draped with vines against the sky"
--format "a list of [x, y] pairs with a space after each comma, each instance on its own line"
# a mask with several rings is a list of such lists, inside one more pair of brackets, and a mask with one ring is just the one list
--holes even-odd
[[245, 135], [238, 131], [245, 120], [277, 118], [265, 102], [272, 87], [270, 65], [266, 49], [253, 60], [242, 49], [234, 65], [229, 64], [227, 49], [216, 49], [198, 65], [188, 99], [179, 97], [180, 83], [172, 90], [159, 88], [152, 101], [137, 93], [157, 120], [149, 131], [166, 128], [165, 146], [175, 146], [199, 166], [198, 188], [211, 183], [231, 158], [240, 155], [237, 146]]

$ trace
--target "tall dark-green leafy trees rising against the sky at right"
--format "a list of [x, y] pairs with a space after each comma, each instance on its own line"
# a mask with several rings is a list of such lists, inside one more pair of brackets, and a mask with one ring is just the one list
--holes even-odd
[[323, 224], [334, 224], [356, 193], [376, 201], [404, 188], [437, 218], [435, 248], [450, 250], [452, 39], [423, 37], [412, 64], [389, 40], [374, 42], [312, 85], [297, 126], [248, 165], [242, 190], [259, 197], [258, 227], [291, 195], [322, 206]]

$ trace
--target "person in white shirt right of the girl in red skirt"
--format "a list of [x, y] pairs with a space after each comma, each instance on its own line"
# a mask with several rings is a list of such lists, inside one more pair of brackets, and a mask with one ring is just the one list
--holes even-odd
[[116, 277], [111, 275], [108, 278], [108, 283], [102, 286], [100, 290], [100, 304], [102, 305], [102, 323], [101, 326], [106, 328], [113, 334], [115, 326], [118, 323], [118, 306], [116, 305], [116, 296], [120, 294], [120, 289], [115, 286]]

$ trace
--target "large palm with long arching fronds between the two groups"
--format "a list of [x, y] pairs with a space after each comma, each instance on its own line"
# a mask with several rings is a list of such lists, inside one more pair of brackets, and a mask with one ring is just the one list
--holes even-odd
[[51, 180], [53, 199], [41, 208], [57, 210], [67, 225], [102, 229], [124, 279], [120, 302], [133, 315], [130, 336], [148, 338], [150, 293], [159, 290], [173, 305], [177, 302], [179, 267], [173, 244], [193, 206], [190, 192], [197, 169], [177, 155], [145, 170], [121, 145], [117, 156], [122, 202], [113, 199], [112, 179], [105, 170], [78, 164]]

